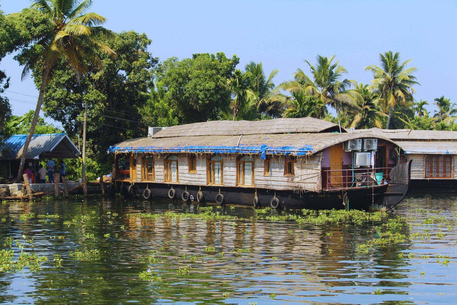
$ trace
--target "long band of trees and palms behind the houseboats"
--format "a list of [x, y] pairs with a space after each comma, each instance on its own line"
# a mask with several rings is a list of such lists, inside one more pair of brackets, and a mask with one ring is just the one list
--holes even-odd
[[[417, 101], [417, 68], [409, 67], [411, 59], [402, 61], [399, 52], [380, 53], [378, 65], [365, 68], [373, 75], [370, 84], [348, 79], [349, 71], [335, 55], [317, 55], [315, 62], [305, 59], [304, 69], [276, 86], [278, 70], [267, 73], [254, 61], [240, 69], [236, 55], [222, 52], [159, 61], [149, 52], [146, 34], [101, 27], [104, 17], [86, 13], [91, 2], [34, 0], [32, 8], [17, 14], [0, 11], [0, 62], [17, 52], [23, 76], [31, 71], [40, 89], [45, 115], [62, 123], [74, 141], [82, 138], [83, 109], [88, 106], [91, 178], [111, 171], [110, 145], [145, 136], [148, 126], [309, 116], [345, 128], [457, 130], [457, 104], [445, 96]], [[2, 139], [31, 129], [36, 134], [59, 131], [37, 112], [12, 116], [4, 96], [8, 85], [0, 70]], [[432, 103], [437, 110], [429, 113], [426, 106]], [[67, 163], [76, 179], [80, 160]]]

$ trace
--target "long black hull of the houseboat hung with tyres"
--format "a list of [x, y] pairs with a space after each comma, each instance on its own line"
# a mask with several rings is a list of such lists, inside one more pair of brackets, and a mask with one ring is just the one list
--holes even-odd
[[[134, 184], [134, 193], [128, 193], [128, 184], [117, 182], [117, 192], [126, 196], [143, 198], [143, 191], [148, 187], [153, 197], [169, 198], [168, 191], [173, 187], [175, 198], [173, 200], [182, 201], [181, 195], [187, 191], [197, 203], [197, 193], [199, 186], [184, 186], [177, 184], [137, 182]], [[123, 189], [121, 189], [123, 188]], [[271, 199], [276, 196], [280, 202], [280, 208], [291, 209], [381, 209], [384, 200], [384, 193], [388, 185], [375, 187], [354, 187], [351, 189], [323, 192], [300, 192], [300, 191], [275, 191], [269, 189], [254, 189], [248, 187], [212, 187], [203, 186], [204, 202], [215, 203], [216, 196], [220, 193], [224, 196], [225, 204], [241, 204], [254, 206], [254, 197], [257, 192], [261, 207], [269, 207]], [[189, 202], [192, 201], [189, 199]], [[344, 204], [345, 203], [345, 204]]]

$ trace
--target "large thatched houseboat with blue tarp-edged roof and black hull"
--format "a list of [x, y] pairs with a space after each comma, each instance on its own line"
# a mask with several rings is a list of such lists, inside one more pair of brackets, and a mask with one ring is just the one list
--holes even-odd
[[315, 118], [210, 121], [110, 146], [116, 190], [183, 201], [309, 209], [390, 209], [410, 163], [383, 135]]

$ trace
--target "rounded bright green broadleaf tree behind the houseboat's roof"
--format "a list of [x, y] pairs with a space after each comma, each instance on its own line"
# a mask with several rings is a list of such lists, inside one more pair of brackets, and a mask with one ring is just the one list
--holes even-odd
[[224, 53], [165, 60], [156, 69], [155, 90], [145, 112], [159, 126], [217, 120], [231, 102], [227, 80], [239, 58]]

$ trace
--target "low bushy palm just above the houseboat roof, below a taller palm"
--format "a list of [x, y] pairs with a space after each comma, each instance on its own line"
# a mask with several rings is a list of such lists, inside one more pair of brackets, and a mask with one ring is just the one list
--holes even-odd
[[303, 91], [292, 91], [292, 98], [287, 99], [286, 109], [282, 113], [284, 118], [320, 118], [323, 119], [329, 113], [322, 100], [314, 96], [306, 95]]

